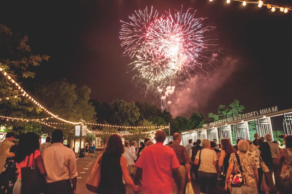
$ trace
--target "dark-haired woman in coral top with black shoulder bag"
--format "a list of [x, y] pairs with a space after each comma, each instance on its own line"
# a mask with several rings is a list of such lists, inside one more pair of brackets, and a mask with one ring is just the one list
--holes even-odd
[[39, 152], [39, 136], [36, 133], [26, 132], [20, 137], [15, 151], [15, 161], [18, 169], [18, 179], [15, 182], [13, 194], [21, 194], [21, 168], [27, 167], [27, 164], [28, 167], [31, 167], [34, 163], [42, 175], [46, 174], [41, 153]]

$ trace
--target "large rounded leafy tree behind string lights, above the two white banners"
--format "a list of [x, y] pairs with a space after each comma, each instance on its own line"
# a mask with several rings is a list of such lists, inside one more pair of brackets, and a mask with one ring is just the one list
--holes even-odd
[[[59, 118], [71, 121], [80, 122], [83, 119], [86, 122], [95, 123], [95, 111], [94, 106], [89, 102], [89, 94], [91, 93], [88, 86], [82, 86], [77, 88], [76, 85], [70, 84], [66, 79], [61, 79], [57, 82], [47, 81], [45, 85], [34, 85], [34, 97], [39, 99], [39, 102], [43, 104], [50, 112], [58, 115]], [[42, 111], [39, 115], [47, 116], [45, 111]], [[52, 122], [62, 123], [60, 120], [52, 119]], [[67, 124], [58, 125], [63, 129], [64, 136], [67, 139], [75, 138], [75, 134], [72, 133], [74, 125]], [[91, 126], [90, 126], [91, 127]], [[53, 128], [45, 128], [44, 133], [50, 134]]]

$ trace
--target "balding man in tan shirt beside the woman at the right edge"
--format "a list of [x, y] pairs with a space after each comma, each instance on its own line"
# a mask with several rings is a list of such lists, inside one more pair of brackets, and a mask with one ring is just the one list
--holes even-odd
[[269, 168], [269, 172], [266, 172], [268, 186], [271, 189], [270, 194], [277, 194], [277, 190], [276, 190], [276, 187], [275, 187], [275, 184], [273, 181], [273, 173], [274, 173], [274, 177], [279, 177], [277, 175], [277, 161], [278, 161], [277, 158], [280, 154], [279, 146], [272, 142], [272, 135], [271, 134], [266, 134], [265, 140], [270, 145], [272, 159], [273, 159], [273, 165]]

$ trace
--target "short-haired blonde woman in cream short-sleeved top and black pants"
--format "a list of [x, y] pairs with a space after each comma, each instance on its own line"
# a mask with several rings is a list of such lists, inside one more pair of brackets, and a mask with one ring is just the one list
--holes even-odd
[[[199, 164], [198, 177], [200, 182], [200, 193], [213, 193], [217, 183], [217, 170], [218, 156], [213, 149], [210, 149], [210, 141], [207, 139], [202, 140], [203, 149], [199, 150], [195, 157], [195, 165]], [[201, 154], [201, 157], [200, 157]]]

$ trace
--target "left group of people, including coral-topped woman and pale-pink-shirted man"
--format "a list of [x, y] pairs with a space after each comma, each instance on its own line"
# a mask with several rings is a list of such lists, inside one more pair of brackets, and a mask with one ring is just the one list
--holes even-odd
[[17, 145], [13, 143], [14, 138], [15, 134], [8, 132], [0, 143], [1, 193], [26, 194], [22, 182], [29, 182], [31, 177], [22, 177], [24, 167], [36, 168], [46, 183], [41, 190], [29, 194], [76, 193], [76, 156], [64, 146], [62, 130], [55, 129], [41, 145], [39, 135], [34, 132], [22, 134]]

